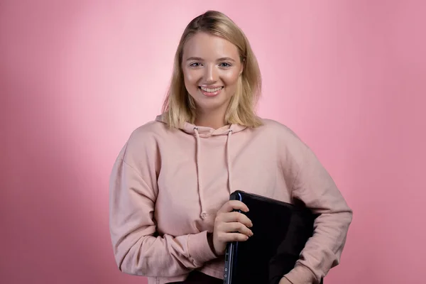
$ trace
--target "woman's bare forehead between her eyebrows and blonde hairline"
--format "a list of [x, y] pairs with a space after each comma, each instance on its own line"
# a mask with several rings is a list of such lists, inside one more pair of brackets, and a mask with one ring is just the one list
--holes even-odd
[[209, 33], [196, 33], [185, 43], [183, 58], [199, 57], [204, 60], [216, 60], [217, 58], [234, 58], [238, 60], [239, 52], [236, 45]]

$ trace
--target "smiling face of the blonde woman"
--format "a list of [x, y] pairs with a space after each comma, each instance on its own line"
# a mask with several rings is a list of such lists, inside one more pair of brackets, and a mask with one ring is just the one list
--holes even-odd
[[183, 48], [185, 87], [198, 111], [226, 111], [243, 71], [236, 46], [209, 33], [196, 33]]

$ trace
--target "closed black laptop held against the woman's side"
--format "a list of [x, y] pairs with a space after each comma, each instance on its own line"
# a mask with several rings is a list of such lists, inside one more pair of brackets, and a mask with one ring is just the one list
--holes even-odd
[[315, 215], [303, 204], [280, 202], [237, 190], [230, 200], [249, 207], [253, 227], [247, 241], [226, 246], [224, 284], [278, 284], [312, 236]]

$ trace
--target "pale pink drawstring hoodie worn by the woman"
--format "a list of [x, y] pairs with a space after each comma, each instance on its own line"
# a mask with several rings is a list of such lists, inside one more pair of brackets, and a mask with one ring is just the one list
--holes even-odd
[[288, 280], [312, 283], [337, 266], [351, 209], [293, 131], [272, 120], [263, 124], [216, 130], [185, 124], [178, 130], [158, 116], [131, 133], [109, 189], [111, 240], [121, 271], [146, 276], [148, 284], [182, 281], [195, 269], [223, 278], [224, 258], [215, 257], [207, 231], [234, 190], [299, 199], [321, 214]]

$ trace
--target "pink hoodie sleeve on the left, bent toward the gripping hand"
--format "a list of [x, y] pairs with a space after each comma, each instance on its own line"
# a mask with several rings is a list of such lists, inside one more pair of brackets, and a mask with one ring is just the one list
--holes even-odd
[[110, 178], [109, 226], [116, 264], [124, 273], [147, 277], [182, 275], [200, 268], [215, 258], [207, 231], [183, 236], [156, 232], [156, 147], [140, 142], [130, 141], [123, 148]]

